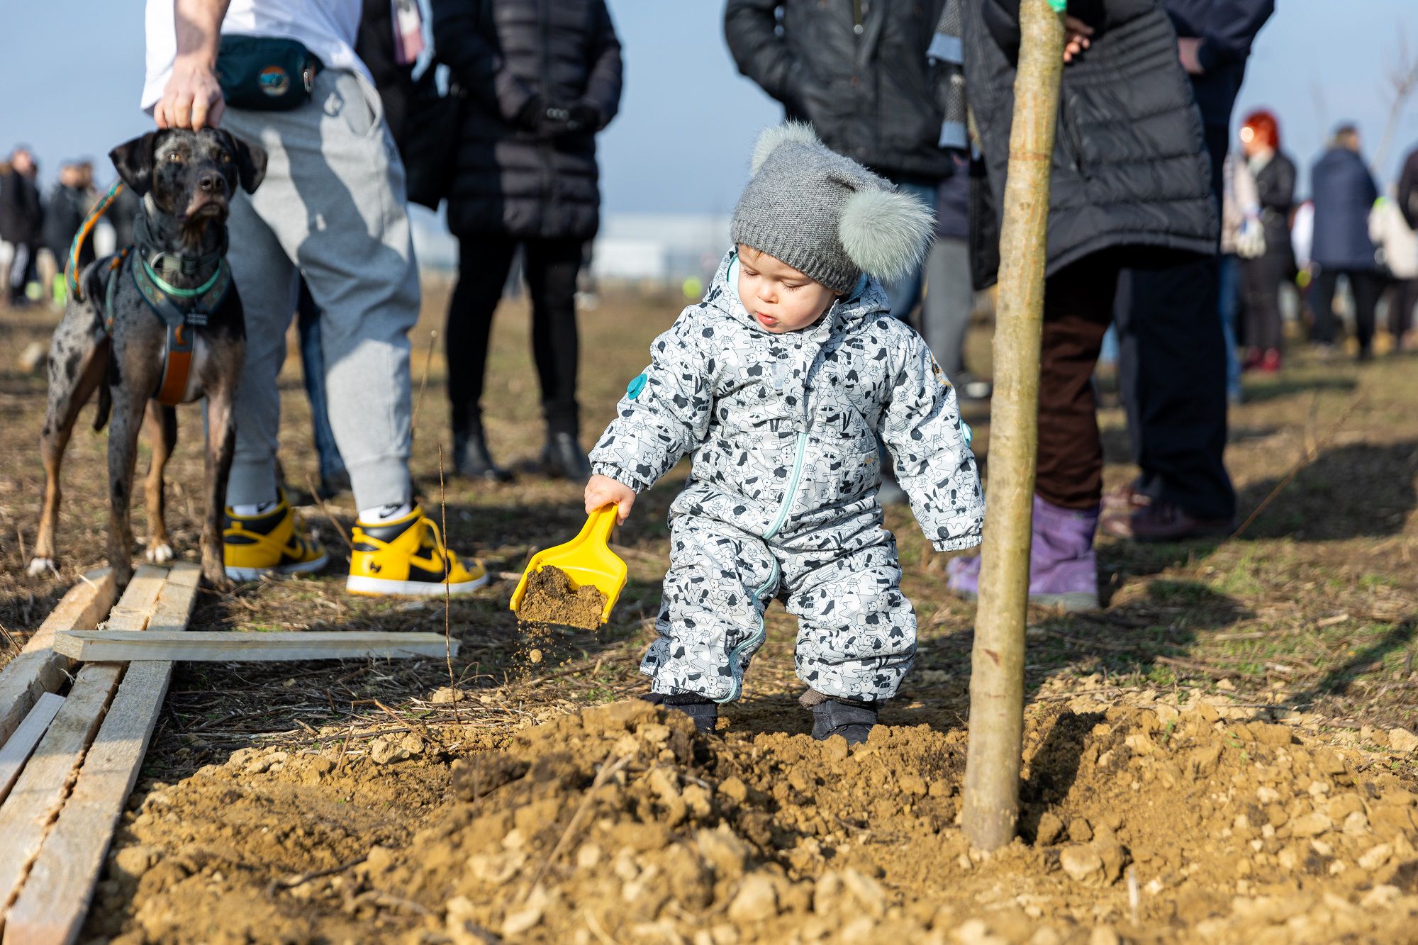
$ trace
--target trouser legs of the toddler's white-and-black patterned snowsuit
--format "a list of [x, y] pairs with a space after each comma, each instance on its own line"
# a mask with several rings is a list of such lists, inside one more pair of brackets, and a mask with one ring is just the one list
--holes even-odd
[[879, 525], [764, 541], [698, 515], [671, 519], [669, 570], [640, 671], [655, 692], [739, 698], [774, 597], [798, 619], [794, 664], [818, 692], [881, 701], [916, 658], [916, 612], [900, 592], [896, 539]]

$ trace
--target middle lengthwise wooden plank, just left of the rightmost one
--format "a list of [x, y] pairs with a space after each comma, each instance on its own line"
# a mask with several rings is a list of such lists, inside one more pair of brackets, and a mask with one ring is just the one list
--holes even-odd
[[[119, 627], [146, 627], [166, 573], [149, 565], [139, 568], [113, 607], [109, 626], [116, 619]], [[40, 853], [122, 671], [118, 663], [91, 663], [79, 670], [68, 698], [0, 805], [0, 837], [4, 837], [0, 843], [0, 908], [9, 910]]]

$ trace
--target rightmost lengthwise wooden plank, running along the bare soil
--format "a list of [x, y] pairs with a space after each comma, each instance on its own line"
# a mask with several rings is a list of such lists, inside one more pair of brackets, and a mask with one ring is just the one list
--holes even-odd
[[[147, 633], [180, 633], [197, 603], [201, 569], [173, 565]], [[4, 924], [6, 945], [72, 942], [94, 898], [104, 857], [123, 805], [133, 792], [147, 744], [162, 714], [173, 664], [133, 663], [79, 768], [74, 792], [44, 839], [30, 877]]]

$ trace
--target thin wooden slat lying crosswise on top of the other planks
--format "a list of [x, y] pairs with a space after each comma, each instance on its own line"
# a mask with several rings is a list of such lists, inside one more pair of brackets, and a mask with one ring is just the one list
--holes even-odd
[[[269, 663], [281, 660], [356, 660], [363, 657], [441, 657], [450, 641], [441, 633], [381, 633], [364, 630], [308, 630], [233, 633], [112, 630], [61, 633], [55, 648], [85, 663], [174, 660], [184, 663]], [[451, 641], [454, 656], [458, 641]]]

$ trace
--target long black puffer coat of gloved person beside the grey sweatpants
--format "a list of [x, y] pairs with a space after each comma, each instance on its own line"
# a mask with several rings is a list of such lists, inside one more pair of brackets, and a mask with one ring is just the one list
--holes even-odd
[[[434, 44], [464, 89], [448, 228], [588, 240], [600, 224], [596, 132], [620, 108], [621, 54], [604, 0], [432, 0]], [[588, 128], [540, 121], [594, 109]], [[536, 112], [530, 115], [529, 112]], [[537, 126], [540, 125], [540, 126]]]

